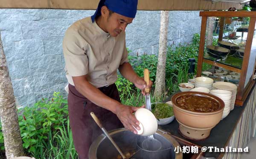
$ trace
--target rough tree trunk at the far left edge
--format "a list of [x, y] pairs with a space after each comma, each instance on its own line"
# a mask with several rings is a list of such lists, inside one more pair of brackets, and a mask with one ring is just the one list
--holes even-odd
[[0, 118], [7, 159], [23, 156], [15, 97], [0, 34]]

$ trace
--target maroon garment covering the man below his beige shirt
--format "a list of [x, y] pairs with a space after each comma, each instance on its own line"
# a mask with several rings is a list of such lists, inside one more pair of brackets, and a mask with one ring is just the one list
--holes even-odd
[[[90, 145], [96, 137], [102, 134], [102, 130], [90, 116], [90, 112], [93, 112], [99, 118], [103, 127], [108, 131], [123, 127], [123, 124], [114, 113], [93, 104], [81, 95], [73, 85], [69, 84], [68, 88], [68, 112], [75, 149], [79, 159], [88, 159]], [[99, 90], [120, 102], [115, 84], [108, 87], [100, 87]]]

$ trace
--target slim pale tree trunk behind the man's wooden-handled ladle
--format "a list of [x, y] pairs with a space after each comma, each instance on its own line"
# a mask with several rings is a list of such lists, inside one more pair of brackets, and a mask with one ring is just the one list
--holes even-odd
[[166, 50], [167, 50], [167, 32], [169, 23], [169, 11], [161, 11], [159, 50], [157, 62], [156, 88], [154, 96], [160, 98], [165, 93], [165, 75], [166, 75]]

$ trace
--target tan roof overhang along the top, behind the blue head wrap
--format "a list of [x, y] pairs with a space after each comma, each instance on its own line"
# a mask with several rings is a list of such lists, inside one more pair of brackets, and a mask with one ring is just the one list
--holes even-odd
[[[215, 2], [214, 2], [215, 1]], [[218, 2], [216, 2], [218, 1]], [[239, 1], [234, 3], [233, 1]], [[244, 0], [138, 0], [138, 10], [224, 10], [241, 9]], [[96, 9], [99, 0], [0, 0], [0, 8]]]

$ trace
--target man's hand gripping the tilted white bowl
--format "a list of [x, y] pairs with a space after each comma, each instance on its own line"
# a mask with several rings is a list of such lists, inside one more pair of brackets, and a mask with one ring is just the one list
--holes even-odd
[[[125, 128], [131, 130], [131, 132], [133, 132], [134, 134], [137, 134], [137, 130], [140, 130], [140, 123], [133, 114], [139, 108], [140, 107], [131, 107], [122, 104], [116, 107], [116, 116], [125, 126]], [[133, 126], [136, 127], [137, 130]]]

